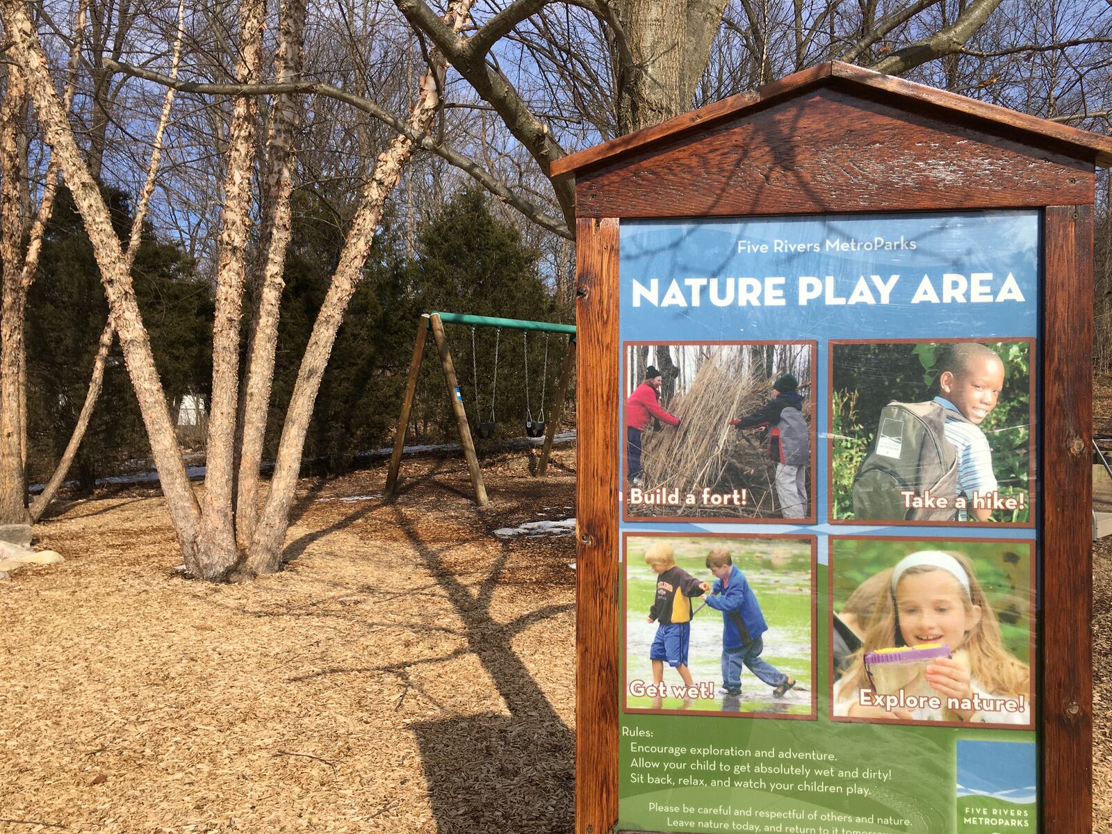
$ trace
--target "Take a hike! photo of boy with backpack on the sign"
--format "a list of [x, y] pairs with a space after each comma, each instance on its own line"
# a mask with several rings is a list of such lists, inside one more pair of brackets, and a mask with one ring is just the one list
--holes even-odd
[[1031, 526], [1032, 340], [832, 342], [834, 522]]

